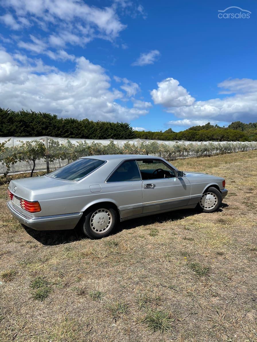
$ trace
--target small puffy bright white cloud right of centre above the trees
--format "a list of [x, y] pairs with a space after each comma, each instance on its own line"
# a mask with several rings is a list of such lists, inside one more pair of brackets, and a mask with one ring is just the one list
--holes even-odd
[[166, 78], [158, 82], [158, 89], [151, 91], [152, 100], [155, 104], [164, 107], [191, 106], [195, 98], [189, 95], [187, 90], [179, 85], [179, 81], [174, 78]]

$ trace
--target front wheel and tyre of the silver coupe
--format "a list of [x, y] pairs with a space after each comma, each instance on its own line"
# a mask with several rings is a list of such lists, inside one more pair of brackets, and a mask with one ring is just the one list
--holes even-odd
[[203, 193], [199, 203], [198, 209], [204, 213], [212, 213], [216, 211], [222, 202], [221, 193], [215, 187], [210, 187]]

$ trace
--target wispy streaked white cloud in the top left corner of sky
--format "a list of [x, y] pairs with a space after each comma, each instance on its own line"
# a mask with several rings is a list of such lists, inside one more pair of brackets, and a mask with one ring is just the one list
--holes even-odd
[[[2, 22], [13, 30], [39, 26], [46, 32], [44, 42], [19, 41], [19, 47], [42, 53], [49, 47], [64, 48], [67, 44], [84, 47], [89, 41], [101, 38], [114, 41], [126, 25], [122, 24], [113, 6], [98, 8], [80, 0], [8, 0], [1, 1], [3, 7], [13, 15], [1, 16]], [[48, 35], [48, 36], [47, 36]], [[125, 45], [124, 45], [125, 46]]]

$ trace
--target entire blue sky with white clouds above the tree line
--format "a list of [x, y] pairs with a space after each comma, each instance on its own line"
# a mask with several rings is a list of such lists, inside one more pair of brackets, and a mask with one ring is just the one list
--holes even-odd
[[152, 131], [257, 121], [256, 0], [0, 4], [1, 107]]

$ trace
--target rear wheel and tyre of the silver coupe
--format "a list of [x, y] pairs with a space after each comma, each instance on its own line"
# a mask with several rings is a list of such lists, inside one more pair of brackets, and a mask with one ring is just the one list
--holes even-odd
[[111, 207], [100, 205], [90, 209], [82, 221], [82, 232], [89, 239], [108, 236], [117, 224], [117, 212]]

